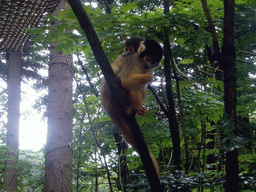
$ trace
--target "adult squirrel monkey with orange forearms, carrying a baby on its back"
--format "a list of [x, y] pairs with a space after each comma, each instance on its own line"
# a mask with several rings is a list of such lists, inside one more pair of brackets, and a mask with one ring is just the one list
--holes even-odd
[[[111, 64], [111, 67], [121, 81], [124, 97], [128, 105], [127, 114], [136, 112], [139, 115], [144, 115], [147, 111], [143, 107], [142, 102], [146, 96], [146, 85], [153, 80], [153, 68], [161, 60], [163, 50], [159, 43], [154, 40], [147, 40], [144, 43], [142, 41], [134, 43], [134, 45], [136, 43], [139, 44], [138, 48], [134, 46], [134, 50], [137, 49], [137, 51], [118, 56], [115, 62]], [[100, 95], [104, 108], [121, 131], [125, 140], [138, 151], [129, 126], [123, 117], [120, 116], [118, 106], [116, 106], [114, 97], [111, 95], [104, 78], [101, 84]], [[150, 153], [150, 156], [156, 172], [159, 173], [158, 164], [152, 153]]]

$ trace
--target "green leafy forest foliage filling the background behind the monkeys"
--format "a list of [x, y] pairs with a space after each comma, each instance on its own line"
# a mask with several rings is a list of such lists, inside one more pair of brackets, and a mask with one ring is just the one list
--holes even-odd
[[[217, 69], [211, 68], [213, 65], [207, 57], [209, 53], [206, 50], [207, 47], [212, 46], [212, 40], [201, 1], [172, 1], [169, 14], [163, 14], [160, 1], [108, 2], [111, 3], [109, 14], [106, 14], [105, 5], [102, 4], [98, 4], [97, 8], [90, 5], [84, 8], [110, 61], [122, 53], [122, 40], [130, 36], [140, 36], [145, 40], [155, 39], [163, 44], [166, 32], [171, 42], [170, 47], [176, 63], [175, 70], [178, 72], [178, 79], [172, 78], [175, 79], [173, 90], [180, 127], [182, 169], [185, 170], [187, 147], [188, 174], [176, 170], [173, 166], [171, 126], [150, 92], [145, 103], [148, 112], [144, 117], [137, 118], [149, 149], [160, 165], [160, 178], [165, 190], [223, 191], [225, 153], [234, 149], [239, 151], [241, 191], [255, 190], [255, 2], [253, 0], [236, 2], [236, 49], [239, 59], [237, 62], [237, 113], [241, 117], [237, 118], [236, 124], [223, 115], [223, 82], [216, 79], [214, 70]], [[217, 38], [221, 42], [223, 1], [207, 0], [207, 3]], [[58, 18], [49, 16], [48, 20], [49, 23], [41, 28], [29, 29], [31, 33], [37, 34], [35, 52], [49, 47], [51, 42], [56, 42], [56, 52], [78, 54], [93, 86], [92, 88], [88, 83], [84, 71], [77, 64], [74, 56], [74, 76], [83, 91], [89, 111], [86, 111], [84, 98], [76, 85], [72, 144], [73, 189], [90, 191], [98, 187], [99, 191], [108, 190], [108, 185], [102, 184], [108, 182], [103, 163], [104, 153], [115, 191], [121, 191], [124, 188], [131, 191], [148, 190], [149, 185], [143, 173], [140, 158], [129, 147], [125, 152], [119, 153], [121, 144], [113, 138], [113, 134], [116, 133], [115, 126], [101, 108], [99, 97], [92, 91], [96, 89], [98, 93], [102, 75], [72, 10], [61, 11]], [[56, 23], [53, 28], [50, 22]], [[40, 57], [38, 60], [34, 58], [35, 55], [31, 55], [24, 62], [24, 67], [27, 69], [24, 75], [28, 81], [30, 77], [37, 78], [40, 83], [37, 87], [44, 88], [43, 85], [47, 85], [47, 80], [33, 72], [43, 67], [42, 62], [45, 62], [45, 57]], [[39, 60], [42, 62], [36, 62]], [[5, 64], [1, 62], [0, 68], [4, 67]], [[1, 77], [6, 79], [5, 70], [1, 71]], [[167, 106], [162, 64], [156, 69], [154, 75], [153, 85], [156, 93], [162, 103]], [[177, 83], [179, 83], [179, 89]], [[0, 95], [2, 106], [6, 105], [5, 99], [5, 95]], [[181, 103], [178, 103], [178, 99]], [[46, 99], [45, 101], [47, 102]], [[88, 113], [91, 122], [89, 122]], [[187, 134], [188, 146], [185, 145], [182, 126]], [[99, 143], [95, 141], [94, 134]], [[2, 132], [1, 139], [4, 140]], [[41, 190], [43, 174], [41, 156], [27, 152], [22, 153], [21, 157], [20, 191]], [[126, 168], [121, 169], [123, 164], [128, 166], [127, 172], [129, 172], [129, 174], [126, 172], [129, 180], [126, 183], [125, 176], [122, 175], [124, 174], [122, 171]]]

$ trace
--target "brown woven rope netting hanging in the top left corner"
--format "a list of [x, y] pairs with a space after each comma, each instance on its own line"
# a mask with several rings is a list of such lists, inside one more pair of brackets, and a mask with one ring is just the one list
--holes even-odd
[[25, 29], [44, 23], [59, 0], [0, 0], [0, 51], [28, 52], [35, 36]]

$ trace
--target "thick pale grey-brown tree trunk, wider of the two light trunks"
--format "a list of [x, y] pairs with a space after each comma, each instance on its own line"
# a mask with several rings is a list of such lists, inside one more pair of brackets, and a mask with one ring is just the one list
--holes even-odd
[[[54, 11], [67, 9], [61, 1]], [[48, 132], [45, 156], [44, 191], [72, 191], [72, 56], [50, 49]]]

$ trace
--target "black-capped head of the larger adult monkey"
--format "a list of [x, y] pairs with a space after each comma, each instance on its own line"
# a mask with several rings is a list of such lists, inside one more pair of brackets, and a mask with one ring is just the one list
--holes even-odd
[[147, 40], [143, 43], [146, 49], [140, 53], [140, 58], [144, 61], [143, 67], [151, 69], [156, 67], [163, 57], [163, 49], [155, 40]]

